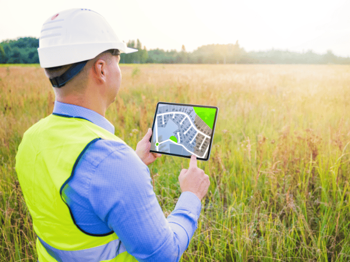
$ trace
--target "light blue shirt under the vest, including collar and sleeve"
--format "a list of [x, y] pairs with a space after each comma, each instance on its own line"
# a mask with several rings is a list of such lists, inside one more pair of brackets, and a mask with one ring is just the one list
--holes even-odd
[[[114, 134], [114, 126], [90, 109], [56, 101], [53, 113], [85, 118]], [[148, 167], [131, 147], [103, 139], [84, 152], [63, 194], [82, 231], [114, 231], [138, 261], [179, 261], [201, 212], [199, 198], [183, 192], [165, 218]]]

